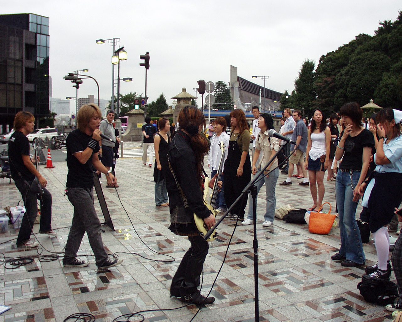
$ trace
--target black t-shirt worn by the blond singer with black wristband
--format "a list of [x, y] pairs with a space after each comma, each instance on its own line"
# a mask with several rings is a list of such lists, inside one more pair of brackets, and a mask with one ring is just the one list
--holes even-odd
[[69, 188], [91, 189], [94, 186], [94, 175], [92, 173], [92, 156], [99, 151], [99, 142], [92, 152], [91, 157], [82, 164], [74, 153], [84, 151], [88, 147], [88, 142], [92, 136], [81, 132], [79, 129], [72, 131], [67, 136], [67, 184]]

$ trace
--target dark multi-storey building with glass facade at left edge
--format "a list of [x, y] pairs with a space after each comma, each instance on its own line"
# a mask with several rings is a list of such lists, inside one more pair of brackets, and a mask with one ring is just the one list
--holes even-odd
[[49, 18], [0, 15], [0, 124], [12, 128], [18, 111], [49, 115]]

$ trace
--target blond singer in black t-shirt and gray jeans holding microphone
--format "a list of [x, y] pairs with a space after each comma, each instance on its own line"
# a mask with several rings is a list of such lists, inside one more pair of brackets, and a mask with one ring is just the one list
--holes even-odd
[[73, 222], [68, 234], [64, 251], [63, 265], [70, 267], [88, 266], [89, 262], [79, 260], [77, 252], [84, 233], [88, 235], [89, 244], [95, 254], [98, 268], [109, 268], [123, 260], [107, 255], [100, 235], [100, 221], [94, 207], [94, 175], [92, 167], [105, 173], [107, 184], [117, 185], [117, 179], [99, 160], [99, 130], [102, 114], [98, 105], [84, 105], [78, 111], [78, 128], [72, 131], [66, 140], [67, 146], [67, 196], [74, 206]]

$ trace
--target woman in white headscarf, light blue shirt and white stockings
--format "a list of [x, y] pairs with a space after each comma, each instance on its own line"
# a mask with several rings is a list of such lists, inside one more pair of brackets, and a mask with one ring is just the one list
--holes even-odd
[[[387, 225], [394, 217], [394, 208], [402, 201], [402, 111], [385, 108], [377, 114], [377, 134], [379, 136], [374, 161], [377, 165], [370, 177], [363, 182], [359, 193], [363, 194], [362, 206], [367, 207], [370, 231], [374, 235], [378, 262], [366, 267], [363, 277], [389, 279], [391, 269], [388, 264], [390, 236]], [[402, 275], [399, 271], [399, 285]], [[397, 274], [395, 274], [397, 276]], [[402, 308], [402, 306], [400, 306]]]

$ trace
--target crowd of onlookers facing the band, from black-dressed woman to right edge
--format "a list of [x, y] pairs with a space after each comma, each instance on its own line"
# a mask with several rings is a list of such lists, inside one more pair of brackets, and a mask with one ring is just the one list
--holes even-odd
[[[254, 120], [251, 125], [246, 121], [244, 112], [236, 109], [230, 112], [230, 124], [228, 118], [218, 117], [205, 129], [205, 135], [210, 141], [208, 168], [211, 178], [217, 174], [219, 164], [223, 162], [222, 189], [213, 205], [222, 213], [238, 199], [254, 175], [269, 163], [281, 144], [286, 143], [269, 136], [269, 130], [274, 128], [270, 114], [260, 113], [257, 106], [252, 108], [252, 113]], [[320, 109], [313, 111], [310, 120], [297, 109], [285, 109], [280, 120], [279, 133], [293, 143], [283, 147], [286, 165], [281, 172], [287, 174], [287, 178], [279, 185], [290, 186], [293, 179], [302, 179], [299, 186], [309, 186], [312, 195], [312, 204], [308, 210], [318, 211], [325, 196], [324, 180], [334, 182], [336, 200], [332, 201], [336, 203], [341, 243], [339, 252], [331, 258], [340, 261], [342, 266], [365, 264], [363, 244], [356, 223], [356, 209], [362, 199], [360, 219], [369, 223], [378, 256], [376, 265], [366, 267], [365, 279], [390, 277], [388, 232], [399, 233], [397, 210], [402, 199], [401, 119], [402, 111], [396, 109], [381, 109], [365, 119], [361, 107], [351, 102], [343, 105], [338, 113], [331, 114], [329, 118]], [[228, 126], [229, 134], [226, 133]], [[147, 125], [143, 127], [144, 143], [147, 136], [153, 137], [157, 132], [150, 130], [148, 133], [146, 128]], [[165, 118], [158, 122], [159, 132], [154, 144], [155, 200], [158, 206], [169, 205], [164, 182], [164, 171], [168, 171], [168, 164], [167, 159], [161, 156], [166, 155], [170, 144], [168, 132], [174, 135], [178, 129], [177, 124], [170, 126]], [[221, 141], [224, 143], [223, 158], [219, 147]], [[146, 147], [144, 157], [143, 162], [146, 164]], [[152, 159], [153, 153], [150, 167]], [[275, 158], [265, 169], [264, 178], [256, 182], [257, 194], [265, 184], [263, 227], [271, 226], [274, 221], [279, 166]], [[246, 205], [247, 200], [244, 198], [237, 202], [230, 211], [230, 219], [240, 221], [242, 225], [252, 224], [251, 195], [248, 197], [248, 214], [244, 217]], [[402, 217], [399, 219], [402, 220]], [[398, 239], [391, 260], [399, 286], [402, 285], [401, 253], [402, 241]], [[402, 300], [388, 305], [387, 309], [402, 310]]]

